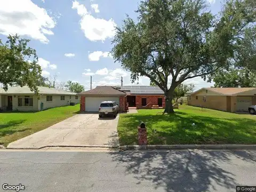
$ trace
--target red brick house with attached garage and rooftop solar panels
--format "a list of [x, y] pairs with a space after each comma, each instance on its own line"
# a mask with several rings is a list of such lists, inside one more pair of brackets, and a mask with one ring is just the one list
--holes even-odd
[[116, 101], [120, 111], [129, 107], [164, 107], [164, 92], [155, 86], [97, 86], [95, 89], [78, 93], [81, 96], [81, 111], [98, 111], [102, 101]]

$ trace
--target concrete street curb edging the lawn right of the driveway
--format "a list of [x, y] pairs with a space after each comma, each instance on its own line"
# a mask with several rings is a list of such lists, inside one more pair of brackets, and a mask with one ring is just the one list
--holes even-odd
[[256, 149], [256, 145], [128, 145], [120, 146], [121, 150], [140, 149]]

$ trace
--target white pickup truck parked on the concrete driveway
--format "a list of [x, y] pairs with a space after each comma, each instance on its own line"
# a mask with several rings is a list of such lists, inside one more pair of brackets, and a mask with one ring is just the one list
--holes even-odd
[[103, 101], [100, 103], [99, 117], [102, 117], [103, 115], [113, 115], [113, 117], [116, 117], [118, 112], [119, 105], [116, 101]]

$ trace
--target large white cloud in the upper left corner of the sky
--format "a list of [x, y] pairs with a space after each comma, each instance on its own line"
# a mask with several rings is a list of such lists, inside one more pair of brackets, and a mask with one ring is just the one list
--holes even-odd
[[0, 34], [26, 35], [42, 43], [48, 43], [45, 35], [51, 31], [56, 22], [47, 11], [30, 0], [0, 1]]

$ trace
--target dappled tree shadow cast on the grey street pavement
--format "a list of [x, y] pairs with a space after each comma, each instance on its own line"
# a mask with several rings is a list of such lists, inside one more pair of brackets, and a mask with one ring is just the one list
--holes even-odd
[[[236, 175], [228, 171], [234, 157], [245, 154], [230, 151], [123, 151], [109, 153], [112, 161], [125, 167], [125, 174], [138, 185], [151, 182], [155, 190], [167, 192], [233, 191], [239, 185]], [[255, 163], [255, 162], [254, 162]]]

